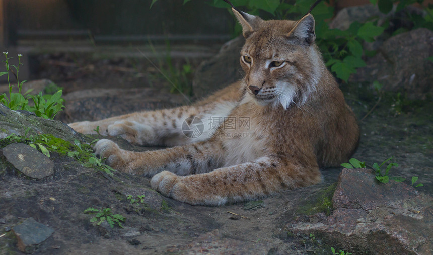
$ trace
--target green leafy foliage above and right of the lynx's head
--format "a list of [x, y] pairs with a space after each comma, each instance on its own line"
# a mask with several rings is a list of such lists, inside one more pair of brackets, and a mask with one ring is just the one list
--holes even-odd
[[[315, 1], [232, 0], [231, 2], [240, 9], [248, 10], [249, 14], [259, 15], [265, 19], [299, 19], [308, 12]], [[152, 1], [151, 7], [155, 2], [157, 0]], [[184, 4], [187, 2], [189, 0], [185, 0]], [[316, 44], [319, 46], [325, 63], [331, 71], [338, 78], [347, 81], [350, 74], [355, 73], [357, 68], [366, 65], [362, 59], [363, 55], [371, 55], [371, 52], [363, 49], [363, 42], [373, 42], [388, 27], [388, 23], [385, 22], [383, 26], [378, 26], [378, 18], [374, 18], [365, 23], [353, 22], [347, 30], [330, 29], [328, 23], [334, 16], [334, 8], [325, 2], [329, 3], [329, 1], [322, 1], [311, 12], [316, 20]], [[388, 13], [392, 10], [393, 4], [398, 3], [396, 10], [400, 11], [413, 3], [422, 4], [423, 0], [370, 0], [370, 2], [378, 4], [381, 12]], [[222, 0], [208, 0], [207, 3], [214, 7], [226, 8], [231, 12], [230, 6]], [[413, 29], [425, 27], [433, 30], [433, 8], [429, 6], [424, 10], [427, 13], [425, 17], [407, 13], [409, 20], [414, 23]], [[394, 33], [406, 30], [401, 28]], [[237, 36], [241, 31], [241, 26], [236, 23], [233, 34]]]

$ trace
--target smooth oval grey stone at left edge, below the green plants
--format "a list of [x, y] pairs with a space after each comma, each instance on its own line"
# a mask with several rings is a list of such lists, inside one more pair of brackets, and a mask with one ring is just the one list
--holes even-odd
[[54, 174], [54, 163], [36, 149], [23, 143], [9, 144], [0, 153], [24, 175], [42, 179]]

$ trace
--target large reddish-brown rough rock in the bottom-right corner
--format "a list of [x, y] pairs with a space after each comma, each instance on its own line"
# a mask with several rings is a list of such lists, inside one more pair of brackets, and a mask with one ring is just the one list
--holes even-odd
[[334, 212], [320, 222], [293, 222], [287, 230], [322, 238], [359, 253], [431, 254], [433, 199], [394, 181], [379, 183], [367, 169], [343, 169]]

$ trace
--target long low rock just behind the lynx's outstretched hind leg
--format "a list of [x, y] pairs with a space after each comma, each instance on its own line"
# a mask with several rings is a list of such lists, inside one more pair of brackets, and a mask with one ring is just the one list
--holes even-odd
[[189, 103], [181, 94], [162, 93], [159, 89], [89, 89], [69, 93], [63, 112], [56, 119], [65, 123], [100, 120], [117, 115]]

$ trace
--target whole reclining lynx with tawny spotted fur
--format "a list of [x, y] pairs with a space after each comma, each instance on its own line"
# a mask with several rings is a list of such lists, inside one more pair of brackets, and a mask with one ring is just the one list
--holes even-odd
[[[313, 16], [264, 21], [232, 10], [246, 40], [242, 80], [190, 106], [70, 127], [94, 133], [99, 126], [101, 134], [131, 143], [175, 146], [134, 152], [102, 139], [94, 149], [113, 168], [152, 177], [153, 189], [192, 205], [319, 183], [321, 167], [338, 166], [353, 154], [359, 129], [314, 44]], [[198, 133], [185, 133], [185, 127]]]

